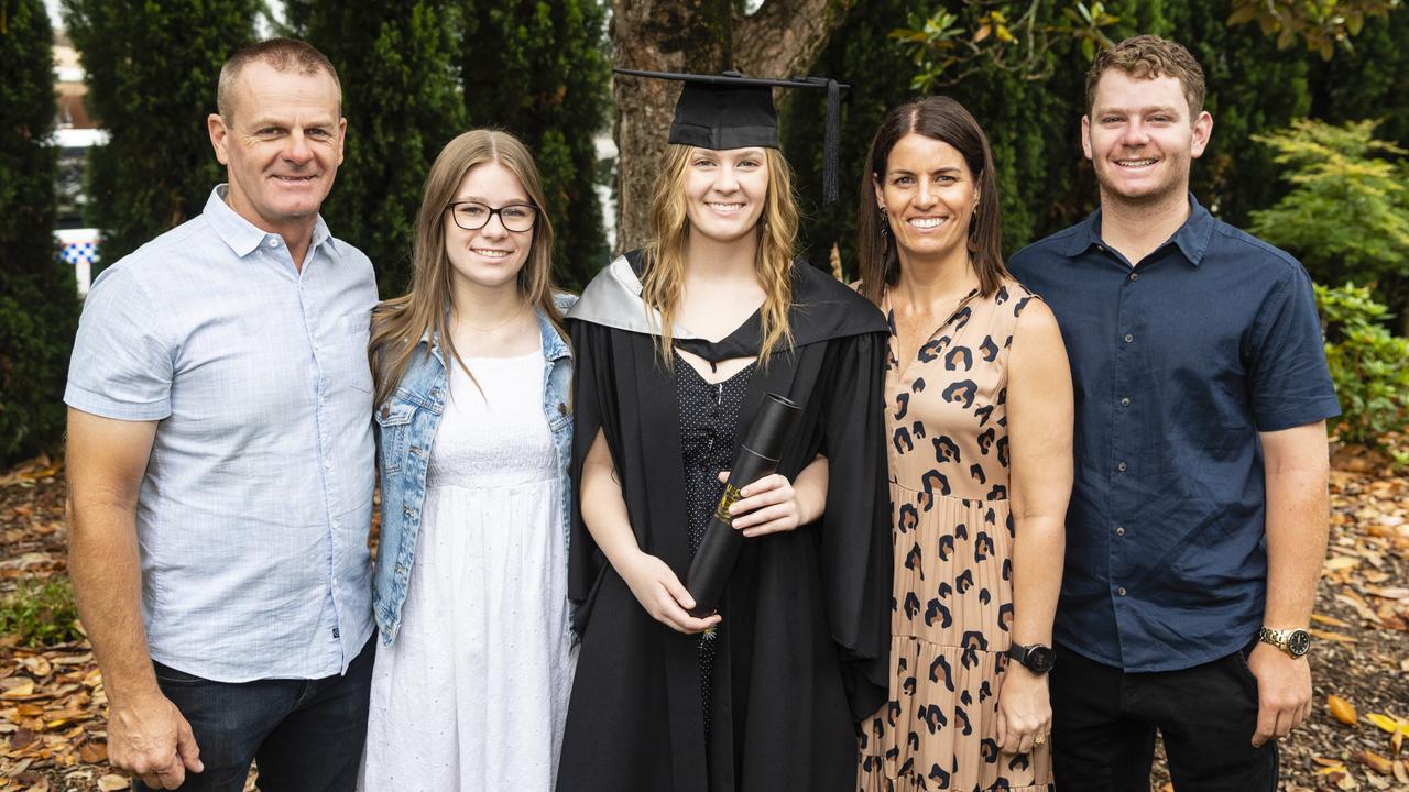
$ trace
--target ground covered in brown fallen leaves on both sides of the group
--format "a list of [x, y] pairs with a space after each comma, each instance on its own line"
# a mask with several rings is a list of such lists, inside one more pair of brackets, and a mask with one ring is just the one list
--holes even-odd
[[[1409, 440], [1389, 438], [1409, 451]], [[1409, 475], [1391, 454], [1337, 448], [1332, 545], [1310, 661], [1316, 707], [1282, 741], [1282, 791], [1409, 792]], [[0, 598], [65, 574], [62, 465], [0, 472]], [[30, 648], [0, 636], [0, 792], [130, 788], [107, 765], [107, 698], [86, 641]], [[1403, 719], [1403, 720], [1401, 720]], [[1155, 789], [1171, 792], [1155, 771]]]

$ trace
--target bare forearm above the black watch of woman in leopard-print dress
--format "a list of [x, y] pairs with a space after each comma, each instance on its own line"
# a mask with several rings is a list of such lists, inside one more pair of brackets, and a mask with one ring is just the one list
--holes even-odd
[[1013, 643], [1053, 643], [1053, 619], [1061, 595], [1067, 534], [1058, 517], [1016, 519], [1013, 541]]

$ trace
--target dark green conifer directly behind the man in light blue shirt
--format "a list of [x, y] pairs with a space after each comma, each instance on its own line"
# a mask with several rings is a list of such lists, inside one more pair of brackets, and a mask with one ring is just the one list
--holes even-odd
[[89, 111], [111, 135], [92, 151], [89, 182], [90, 221], [111, 264], [200, 214], [224, 180], [206, 116], [216, 111], [220, 66], [255, 38], [262, 1], [62, 1]]

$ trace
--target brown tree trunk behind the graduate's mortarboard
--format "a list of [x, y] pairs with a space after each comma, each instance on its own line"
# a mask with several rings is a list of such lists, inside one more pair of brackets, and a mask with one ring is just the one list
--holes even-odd
[[[616, 66], [657, 72], [800, 76], [852, 0], [764, 0], [752, 14], [733, 0], [614, 0]], [[617, 78], [617, 251], [650, 237], [651, 190], [681, 83]], [[775, 96], [779, 103], [785, 96]], [[820, 123], [820, 120], [819, 120]]]

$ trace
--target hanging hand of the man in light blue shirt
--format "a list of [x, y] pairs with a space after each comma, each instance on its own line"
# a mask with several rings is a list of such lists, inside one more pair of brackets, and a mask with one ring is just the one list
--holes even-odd
[[190, 723], [159, 692], [111, 707], [107, 760], [152, 789], [176, 789], [186, 782], [187, 771], [206, 769]]

